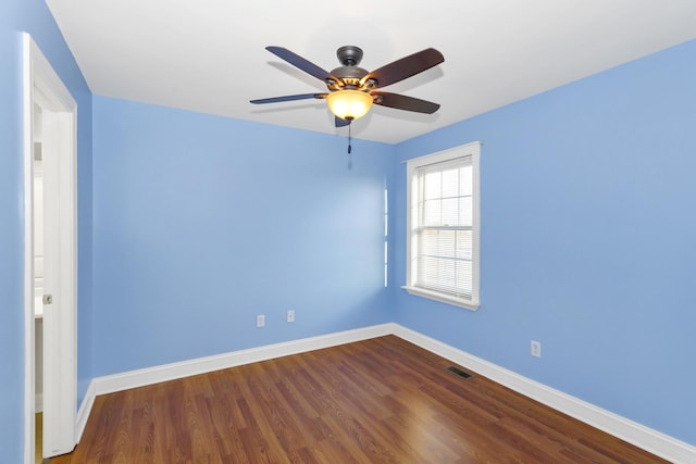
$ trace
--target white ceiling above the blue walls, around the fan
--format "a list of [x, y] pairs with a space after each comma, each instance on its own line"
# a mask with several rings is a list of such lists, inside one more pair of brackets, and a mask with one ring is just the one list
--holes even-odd
[[345, 134], [325, 91], [264, 50], [320, 67], [363, 49], [375, 70], [433, 47], [445, 62], [385, 91], [442, 104], [432, 115], [373, 106], [353, 136], [399, 142], [696, 38], [696, 0], [46, 0], [96, 95]]

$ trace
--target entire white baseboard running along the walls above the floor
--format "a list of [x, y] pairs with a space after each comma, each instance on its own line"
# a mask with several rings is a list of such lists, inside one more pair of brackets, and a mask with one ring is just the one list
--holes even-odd
[[418, 344], [425, 350], [470, 368], [500, 385], [666, 460], [674, 463], [696, 462], [696, 447], [393, 323], [97, 377], [89, 385], [79, 409], [77, 419], [78, 441], [87, 424], [87, 417], [94, 404], [95, 397], [98, 394], [142, 387], [385, 335], [396, 335], [413, 344]]

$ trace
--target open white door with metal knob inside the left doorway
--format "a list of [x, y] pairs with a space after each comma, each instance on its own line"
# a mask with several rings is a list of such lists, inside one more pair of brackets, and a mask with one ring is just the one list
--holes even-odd
[[[75, 447], [77, 369], [75, 361], [75, 276], [71, 189], [62, 156], [70, 114], [41, 109], [44, 155], [44, 457]], [[67, 178], [66, 178], [67, 177]], [[64, 185], [69, 184], [69, 185]], [[69, 217], [64, 217], [64, 216]]]

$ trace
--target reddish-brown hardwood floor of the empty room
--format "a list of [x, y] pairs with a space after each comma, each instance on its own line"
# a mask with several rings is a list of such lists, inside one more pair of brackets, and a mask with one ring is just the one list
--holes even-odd
[[388, 336], [105, 394], [51, 463], [666, 462], [450, 365]]

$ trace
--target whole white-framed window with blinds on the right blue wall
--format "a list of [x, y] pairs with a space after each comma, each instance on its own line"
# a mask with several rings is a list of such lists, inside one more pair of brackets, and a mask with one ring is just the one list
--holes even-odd
[[469, 143], [407, 162], [409, 293], [478, 308], [478, 154]]

